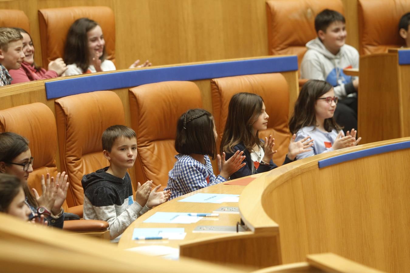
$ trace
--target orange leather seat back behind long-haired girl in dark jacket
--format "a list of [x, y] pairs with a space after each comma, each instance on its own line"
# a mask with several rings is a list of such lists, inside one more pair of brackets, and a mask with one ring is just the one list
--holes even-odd
[[[290, 141], [289, 86], [285, 77], [280, 73], [271, 73], [212, 79], [211, 90], [215, 126], [218, 133], [218, 151], [228, 117], [230, 99], [241, 92], [255, 93], [264, 100], [266, 113], [269, 115], [267, 130], [273, 130], [274, 149], [278, 150], [273, 156], [273, 162], [278, 166], [282, 165]], [[264, 132], [261, 133], [266, 135]]]

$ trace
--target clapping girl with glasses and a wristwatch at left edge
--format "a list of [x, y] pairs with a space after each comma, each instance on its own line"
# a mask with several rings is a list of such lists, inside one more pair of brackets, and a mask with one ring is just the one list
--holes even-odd
[[66, 199], [68, 182], [67, 175], [63, 172], [57, 174], [56, 178], [47, 179], [41, 176], [41, 196], [35, 189], [30, 191], [27, 179], [33, 171], [33, 160], [28, 140], [16, 133], [5, 132], [0, 134], [0, 173], [14, 174], [23, 181], [23, 190], [27, 205], [33, 214], [46, 215], [52, 226], [63, 227], [64, 210], [62, 204]]

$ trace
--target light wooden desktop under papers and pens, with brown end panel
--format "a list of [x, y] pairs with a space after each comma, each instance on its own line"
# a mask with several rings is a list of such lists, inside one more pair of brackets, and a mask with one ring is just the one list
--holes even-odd
[[[258, 177], [256, 174], [252, 177]], [[223, 206], [237, 207], [238, 203], [188, 203], [178, 202], [198, 192], [241, 194], [245, 186], [218, 184], [191, 192], [168, 201], [157, 208], [146, 212], [135, 220], [123, 233], [118, 247], [132, 248], [147, 244], [180, 248], [180, 256], [193, 257], [219, 264], [237, 264], [250, 268], [262, 268], [281, 264], [278, 230], [266, 234], [255, 235], [251, 231], [241, 233], [193, 233], [196, 226], [236, 226], [240, 221], [239, 214], [221, 213], [219, 217], [204, 217], [197, 223], [144, 223], [155, 212], [212, 212]], [[134, 228], [185, 228], [184, 240], [137, 241], [132, 240]], [[206, 254], [205, 254], [206, 253]]]

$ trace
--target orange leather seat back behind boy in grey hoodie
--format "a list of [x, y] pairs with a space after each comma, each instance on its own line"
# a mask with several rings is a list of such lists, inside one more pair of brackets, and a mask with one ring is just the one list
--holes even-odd
[[323, 9], [333, 9], [343, 14], [340, 0], [266, 1], [269, 54], [295, 54], [300, 67], [307, 51], [306, 43], [317, 37], [314, 18]]

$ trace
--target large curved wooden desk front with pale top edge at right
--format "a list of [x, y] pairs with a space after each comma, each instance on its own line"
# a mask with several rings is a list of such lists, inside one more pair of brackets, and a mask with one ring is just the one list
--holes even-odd
[[[379, 270], [407, 272], [408, 141], [360, 145], [279, 167], [242, 191], [241, 217], [255, 234], [276, 232], [279, 225], [284, 264], [304, 261], [307, 254], [333, 252]], [[397, 146], [402, 149], [388, 151]], [[318, 167], [320, 160], [337, 161], [337, 155], [354, 158], [376, 150], [381, 153]]]

